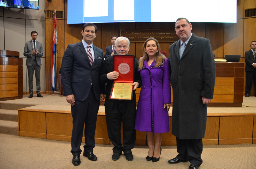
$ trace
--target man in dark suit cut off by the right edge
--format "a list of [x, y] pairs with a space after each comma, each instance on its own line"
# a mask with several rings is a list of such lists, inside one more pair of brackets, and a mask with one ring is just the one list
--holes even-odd
[[256, 41], [251, 42], [251, 50], [248, 50], [244, 54], [245, 60], [245, 72], [246, 72], [246, 83], [245, 83], [245, 97], [249, 97], [252, 89], [252, 80], [254, 79], [254, 96], [256, 97]]

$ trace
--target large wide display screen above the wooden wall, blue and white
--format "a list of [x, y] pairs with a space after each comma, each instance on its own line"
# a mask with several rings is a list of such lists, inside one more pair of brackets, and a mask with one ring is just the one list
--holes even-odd
[[68, 24], [103, 22], [236, 23], [237, 0], [72, 0], [68, 1]]

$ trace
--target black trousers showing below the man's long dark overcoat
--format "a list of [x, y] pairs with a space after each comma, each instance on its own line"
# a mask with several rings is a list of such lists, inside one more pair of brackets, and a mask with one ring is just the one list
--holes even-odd
[[189, 139], [182, 140], [176, 137], [177, 152], [179, 153], [176, 158], [189, 161], [191, 165], [200, 166], [203, 163], [201, 154], [203, 152], [202, 139]]

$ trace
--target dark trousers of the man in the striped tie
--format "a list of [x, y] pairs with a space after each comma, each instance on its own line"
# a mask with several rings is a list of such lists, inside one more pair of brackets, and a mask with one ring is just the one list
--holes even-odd
[[[97, 114], [100, 107], [100, 101], [96, 100], [93, 88], [90, 90], [89, 96], [84, 101], [77, 101], [75, 96], [75, 105], [71, 105], [71, 113], [73, 117], [73, 130], [71, 136], [71, 153], [80, 155], [80, 149], [84, 131], [86, 152], [93, 152], [95, 147], [95, 128], [97, 121]], [[85, 126], [85, 127], [84, 127]]]

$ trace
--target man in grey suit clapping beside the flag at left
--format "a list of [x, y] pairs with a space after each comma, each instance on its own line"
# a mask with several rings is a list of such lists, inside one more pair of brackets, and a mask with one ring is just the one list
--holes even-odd
[[28, 68], [28, 88], [29, 88], [29, 96], [28, 98], [33, 97], [33, 75], [35, 70], [36, 76], [36, 97], [43, 97], [40, 94], [40, 69], [41, 69], [41, 57], [43, 56], [43, 45], [42, 43], [36, 41], [37, 32], [32, 31], [31, 33], [31, 41], [25, 43], [24, 53], [23, 55], [27, 57], [26, 65]]

